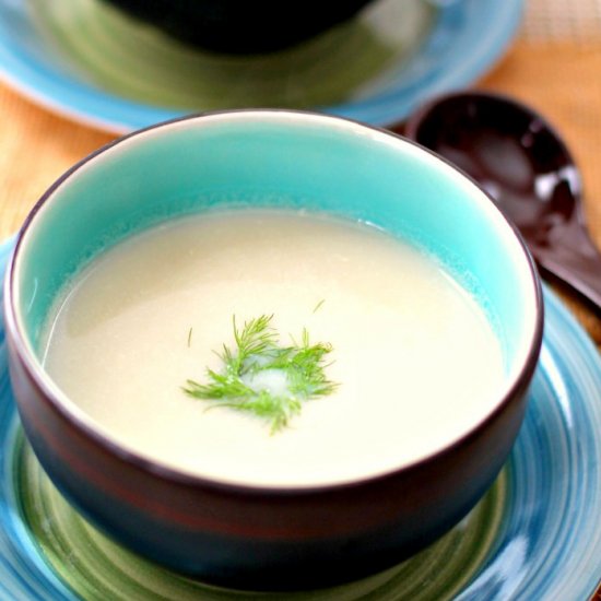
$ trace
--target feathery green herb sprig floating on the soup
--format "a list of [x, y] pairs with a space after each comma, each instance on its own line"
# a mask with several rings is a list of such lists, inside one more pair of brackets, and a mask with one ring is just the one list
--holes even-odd
[[330, 344], [311, 344], [303, 330], [300, 342], [281, 346], [271, 326], [273, 316], [246, 321], [241, 329], [233, 318], [236, 349], [225, 344], [217, 355], [223, 369], [207, 369], [207, 384], [187, 380], [184, 391], [196, 399], [213, 401], [209, 409], [232, 408], [271, 424], [271, 433], [288, 425], [304, 401], [331, 394], [337, 384], [328, 380], [325, 357]]

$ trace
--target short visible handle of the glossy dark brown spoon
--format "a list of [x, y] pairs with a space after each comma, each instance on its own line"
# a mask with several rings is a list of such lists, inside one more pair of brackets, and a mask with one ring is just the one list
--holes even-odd
[[533, 248], [539, 266], [586, 297], [601, 314], [601, 252], [586, 233], [576, 246]]

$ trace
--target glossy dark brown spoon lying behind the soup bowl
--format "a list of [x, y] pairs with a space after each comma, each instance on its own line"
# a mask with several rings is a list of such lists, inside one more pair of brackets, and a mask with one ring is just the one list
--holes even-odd
[[545, 119], [505, 96], [457, 93], [411, 116], [404, 134], [479, 181], [542, 270], [601, 311], [601, 254], [585, 225], [580, 174]]

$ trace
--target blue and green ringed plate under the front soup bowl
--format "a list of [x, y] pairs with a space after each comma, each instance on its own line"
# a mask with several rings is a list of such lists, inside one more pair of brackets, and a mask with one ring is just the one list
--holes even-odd
[[[2, 270], [11, 248], [10, 243], [0, 248]], [[386, 573], [290, 598], [568, 601], [593, 592], [601, 574], [601, 362], [550, 292], [545, 307], [543, 352], [526, 422], [481, 504], [447, 537]], [[157, 568], [79, 517], [24, 441], [3, 329], [0, 341], [0, 599], [263, 598]]]

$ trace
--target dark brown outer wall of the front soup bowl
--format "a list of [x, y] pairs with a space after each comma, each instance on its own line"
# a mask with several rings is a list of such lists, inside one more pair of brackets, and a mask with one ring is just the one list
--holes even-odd
[[299, 491], [191, 479], [111, 448], [58, 409], [22, 360], [14, 332], [8, 340], [25, 433], [66, 497], [150, 559], [252, 590], [357, 579], [402, 561], [459, 521], [510, 452], [538, 354], [537, 347], [499, 409], [451, 448], [388, 475]]

